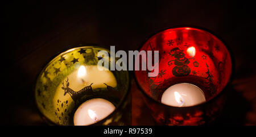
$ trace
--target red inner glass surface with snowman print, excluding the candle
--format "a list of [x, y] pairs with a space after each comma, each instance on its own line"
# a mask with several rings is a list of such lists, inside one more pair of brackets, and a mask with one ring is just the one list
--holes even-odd
[[146, 70], [135, 71], [142, 90], [156, 101], [168, 87], [180, 82], [199, 86], [209, 101], [221, 92], [232, 73], [231, 57], [224, 43], [197, 28], [159, 32], [143, 44], [142, 50], [159, 51], [158, 76], [148, 77]]

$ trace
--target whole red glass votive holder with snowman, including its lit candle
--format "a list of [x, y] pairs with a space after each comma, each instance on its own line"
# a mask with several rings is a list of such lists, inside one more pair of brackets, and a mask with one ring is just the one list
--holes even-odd
[[148, 77], [153, 70], [134, 72], [156, 124], [209, 124], [221, 114], [232, 57], [220, 39], [198, 28], [170, 28], [148, 39], [140, 51], [159, 51], [157, 76]]

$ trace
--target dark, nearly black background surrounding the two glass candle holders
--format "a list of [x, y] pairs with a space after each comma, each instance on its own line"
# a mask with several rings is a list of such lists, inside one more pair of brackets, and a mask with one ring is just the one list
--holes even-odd
[[[36, 109], [34, 84], [58, 53], [88, 43], [134, 51], [160, 30], [196, 26], [222, 38], [235, 59], [232, 89], [217, 124], [256, 125], [254, 10], [250, 1], [6, 2], [0, 124], [46, 124]], [[134, 91], [132, 123], [154, 124]]]

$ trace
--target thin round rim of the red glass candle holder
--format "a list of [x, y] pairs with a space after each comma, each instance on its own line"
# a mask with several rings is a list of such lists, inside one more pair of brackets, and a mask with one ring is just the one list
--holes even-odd
[[231, 64], [232, 64], [232, 70], [231, 70], [232, 72], [230, 73], [229, 81], [227, 82], [227, 84], [224, 86], [224, 88], [221, 90], [221, 92], [216, 94], [216, 96], [214, 96], [213, 98], [209, 99], [208, 101], [205, 101], [205, 102], [199, 103], [197, 105], [194, 105], [194, 106], [177, 107], [177, 106], [169, 106], [169, 105], [166, 105], [164, 103], [160, 103], [159, 101], [156, 101], [155, 99], [149, 97], [148, 94], [146, 94], [144, 92], [144, 90], [142, 89], [141, 85], [139, 85], [137, 77], [136, 77], [136, 74], [135, 74], [135, 71], [133, 71], [133, 76], [134, 76], [134, 79], [135, 79], [135, 83], [136, 83], [137, 87], [139, 88], [140, 92], [143, 93], [146, 98], [152, 100], [153, 102], [157, 103], [158, 105], [163, 105], [164, 107], [167, 107], [167, 108], [169, 107], [170, 109], [171, 108], [189, 109], [189, 108], [192, 108], [192, 107], [200, 107], [200, 106], [207, 105], [208, 103], [213, 102], [218, 97], [220, 97], [222, 94], [224, 94], [225, 89], [227, 88], [228, 85], [232, 84], [232, 81], [234, 80], [234, 77], [235, 77], [234, 76], [234, 72], [235, 72], [234, 52], [232, 51], [230, 46], [228, 44], [226, 44], [225, 40], [222, 39], [218, 34], [216, 34], [216, 32], [213, 32], [213, 31], [211, 31], [211, 30], [209, 30], [207, 28], [204, 28], [204, 27], [192, 26], [192, 25], [177, 25], [177, 26], [173, 26], [173, 27], [162, 28], [162, 29], [156, 31], [153, 34], [148, 35], [146, 37], [146, 39], [142, 41], [142, 43], [138, 44], [138, 47], [139, 47], [138, 51], [140, 51], [140, 49], [143, 47], [144, 43], [146, 43], [150, 38], [152, 38], [153, 36], [155, 36], [155, 35], [157, 35], [157, 34], [159, 34], [161, 32], [165, 32], [165, 31], [168, 31], [168, 30], [171, 30], [171, 29], [185, 29], [185, 28], [189, 28], [187, 30], [205, 31], [205, 32], [208, 32], [209, 34], [212, 34], [217, 39], [219, 39], [225, 45], [225, 47], [228, 49], [228, 52], [229, 52], [229, 55], [230, 55], [230, 59], [231, 59]]

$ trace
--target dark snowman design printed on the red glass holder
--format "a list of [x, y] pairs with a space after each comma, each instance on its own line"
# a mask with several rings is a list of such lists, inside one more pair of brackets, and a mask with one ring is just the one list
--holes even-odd
[[187, 76], [191, 72], [191, 69], [188, 67], [189, 59], [185, 57], [185, 53], [183, 53], [182, 50], [179, 48], [173, 48], [169, 55], [175, 57], [175, 60], [168, 61], [169, 67], [172, 65], [172, 61], [174, 61], [174, 65], [176, 65], [172, 69], [172, 74], [174, 74], [174, 76]]

